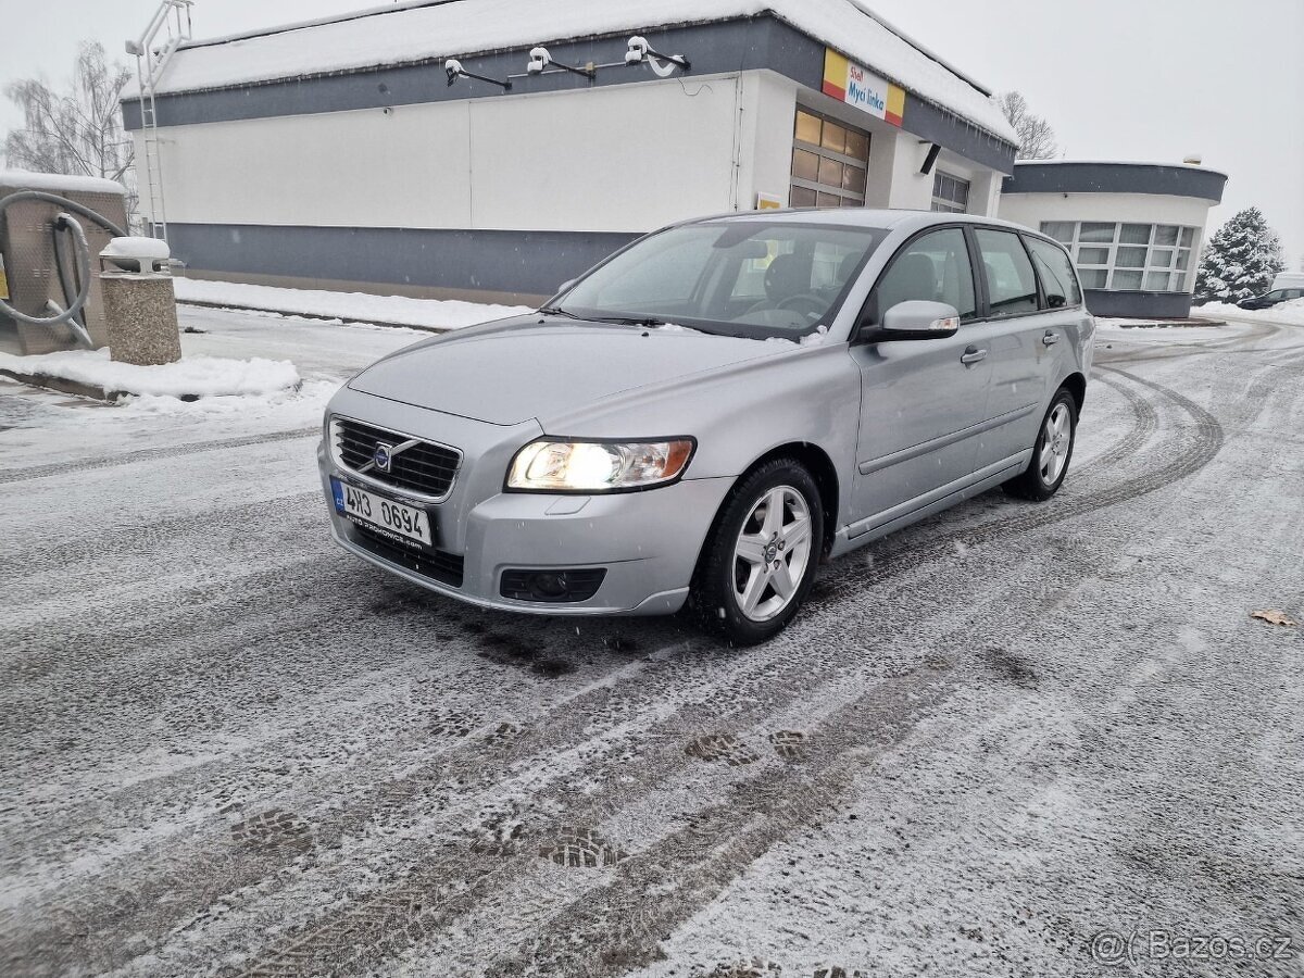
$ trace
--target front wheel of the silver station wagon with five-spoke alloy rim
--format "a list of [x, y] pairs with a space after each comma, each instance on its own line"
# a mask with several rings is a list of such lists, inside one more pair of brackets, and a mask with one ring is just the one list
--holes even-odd
[[823, 549], [824, 510], [814, 477], [794, 459], [767, 462], [743, 476], [721, 506], [698, 561], [690, 608], [704, 630], [733, 645], [768, 642], [806, 600]]

